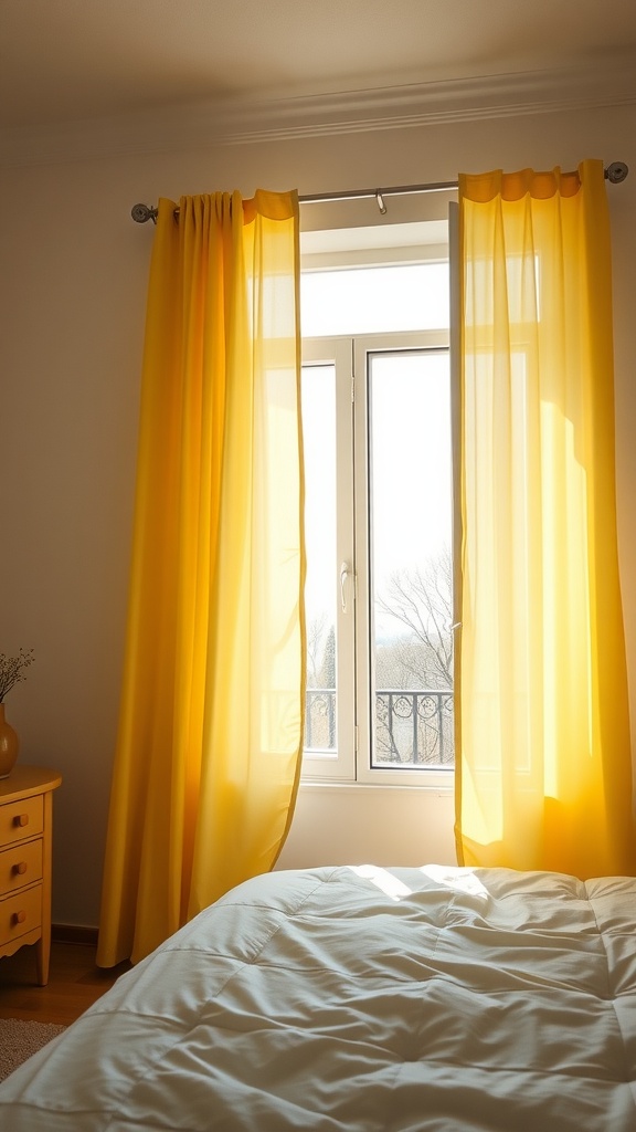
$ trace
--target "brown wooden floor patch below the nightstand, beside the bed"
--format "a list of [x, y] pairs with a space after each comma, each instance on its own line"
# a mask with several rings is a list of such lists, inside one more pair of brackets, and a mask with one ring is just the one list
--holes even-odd
[[49, 983], [38, 987], [34, 946], [20, 947], [15, 955], [0, 959], [0, 1018], [68, 1026], [130, 966], [120, 963], [103, 970], [95, 966], [94, 946], [53, 942]]

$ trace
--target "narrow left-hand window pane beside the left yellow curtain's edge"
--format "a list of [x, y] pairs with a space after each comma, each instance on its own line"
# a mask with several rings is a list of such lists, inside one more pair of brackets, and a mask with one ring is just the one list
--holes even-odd
[[307, 546], [304, 749], [336, 749], [336, 371], [302, 368]]

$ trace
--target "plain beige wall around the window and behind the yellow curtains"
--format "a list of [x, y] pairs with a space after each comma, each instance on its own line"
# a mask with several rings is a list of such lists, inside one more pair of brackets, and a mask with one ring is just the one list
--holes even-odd
[[[300, 192], [458, 170], [627, 162], [614, 233], [620, 552], [636, 703], [636, 108], [32, 164], [0, 173], [0, 651], [35, 649], [8, 700], [20, 760], [58, 767], [58, 923], [97, 921], [132, 515], [151, 226], [138, 201]], [[369, 207], [372, 207], [369, 205]], [[301, 791], [282, 865], [453, 859], [452, 798]]]

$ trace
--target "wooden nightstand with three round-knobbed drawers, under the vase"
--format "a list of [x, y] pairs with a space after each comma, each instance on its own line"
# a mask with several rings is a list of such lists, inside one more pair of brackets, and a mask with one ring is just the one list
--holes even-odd
[[0, 780], [0, 958], [35, 949], [37, 981], [51, 955], [51, 823], [61, 774], [16, 765]]

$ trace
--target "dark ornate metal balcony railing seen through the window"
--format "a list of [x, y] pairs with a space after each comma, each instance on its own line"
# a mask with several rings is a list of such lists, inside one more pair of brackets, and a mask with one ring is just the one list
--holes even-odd
[[[453, 766], [450, 688], [377, 688], [375, 766]], [[335, 751], [336, 689], [308, 688], [306, 751]]]

